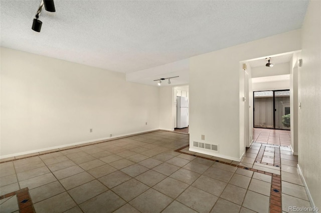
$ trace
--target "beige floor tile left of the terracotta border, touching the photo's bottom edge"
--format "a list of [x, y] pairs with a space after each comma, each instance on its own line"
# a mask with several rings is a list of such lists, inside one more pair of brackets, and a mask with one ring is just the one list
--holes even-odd
[[268, 213], [269, 200], [270, 198], [268, 196], [253, 191], [247, 191], [243, 206], [260, 213]]

